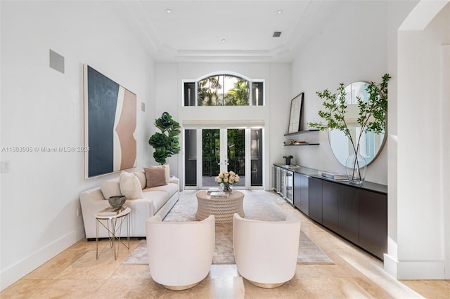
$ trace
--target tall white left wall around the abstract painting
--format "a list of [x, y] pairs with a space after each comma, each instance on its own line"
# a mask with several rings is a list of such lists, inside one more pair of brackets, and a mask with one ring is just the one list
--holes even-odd
[[[65, 74], [49, 67], [49, 49]], [[1, 147], [83, 146], [82, 65], [137, 95], [138, 166], [148, 163], [154, 65], [103, 1], [1, 1]], [[141, 112], [146, 102], [147, 112]], [[149, 109], [150, 108], [150, 109]], [[1, 289], [84, 237], [81, 152], [1, 152]]]

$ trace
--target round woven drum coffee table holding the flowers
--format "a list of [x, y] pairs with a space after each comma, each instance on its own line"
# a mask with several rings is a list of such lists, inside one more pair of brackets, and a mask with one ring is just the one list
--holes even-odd
[[198, 207], [195, 215], [199, 220], [214, 215], [216, 222], [231, 222], [234, 213], [238, 213], [240, 217], [245, 216], [243, 199], [244, 194], [240, 191], [231, 192], [225, 199], [212, 199], [206, 190], [202, 190], [197, 192]]

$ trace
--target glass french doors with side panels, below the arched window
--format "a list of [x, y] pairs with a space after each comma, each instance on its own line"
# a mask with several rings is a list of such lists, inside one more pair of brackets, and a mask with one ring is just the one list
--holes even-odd
[[186, 189], [217, 187], [221, 171], [239, 175], [234, 189], [262, 189], [262, 129], [186, 129], [184, 136]]

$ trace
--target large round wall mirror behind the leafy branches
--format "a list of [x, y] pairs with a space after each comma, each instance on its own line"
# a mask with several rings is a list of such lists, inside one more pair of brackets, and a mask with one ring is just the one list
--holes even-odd
[[[347, 93], [345, 103], [347, 104], [347, 113], [345, 114], [345, 122], [352, 134], [353, 140], [357, 140], [361, 132], [361, 126], [358, 124], [359, 107], [356, 97], [367, 102], [368, 94], [366, 88], [367, 82], [354, 82], [345, 87]], [[353, 154], [352, 142], [340, 130], [328, 130], [328, 138], [330, 140], [331, 150], [338, 159], [339, 163], [345, 166], [347, 158]], [[378, 154], [380, 154], [385, 144], [385, 133], [376, 134], [373, 132], [363, 133], [359, 141], [359, 154], [365, 159], [367, 164], [371, 164]]]

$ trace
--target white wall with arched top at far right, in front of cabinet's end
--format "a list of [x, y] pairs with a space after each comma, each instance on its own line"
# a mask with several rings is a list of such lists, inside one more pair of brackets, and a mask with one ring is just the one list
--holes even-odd
[[385, 270], [398, 279], [450, 277], [448, 2], [420, 1], [398, 33], [397, 157], [389, 172], [397, 190], [385, 255]]

